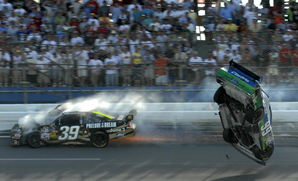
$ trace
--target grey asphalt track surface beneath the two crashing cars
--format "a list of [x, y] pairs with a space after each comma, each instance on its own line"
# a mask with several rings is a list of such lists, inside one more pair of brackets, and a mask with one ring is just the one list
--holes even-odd
[[298, 142], [277, 136], [266, 166], [223, 141], [219, 132], [143, 127], [135, 137], [90, 146], [10, 146], [0, 138], [0, 180], [298, 180]]

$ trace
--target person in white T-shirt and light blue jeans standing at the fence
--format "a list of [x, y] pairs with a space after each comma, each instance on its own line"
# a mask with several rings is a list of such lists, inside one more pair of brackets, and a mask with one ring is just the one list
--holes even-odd
[[115, 67], [117, 64], [117, 60], [112, 58], [111, 53], [108, 53], [104, 61], [104, 65], [106, 66], [106, 86], [115, 86], [115, 75], [117, 73]]

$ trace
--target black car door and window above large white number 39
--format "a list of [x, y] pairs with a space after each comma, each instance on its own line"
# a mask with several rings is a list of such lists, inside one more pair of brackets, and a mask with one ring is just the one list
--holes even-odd
[[78, 138], [81, 117], [78, 112], [66, 113], [60, 117], [57, 125], [58, 141], [71, 142]]

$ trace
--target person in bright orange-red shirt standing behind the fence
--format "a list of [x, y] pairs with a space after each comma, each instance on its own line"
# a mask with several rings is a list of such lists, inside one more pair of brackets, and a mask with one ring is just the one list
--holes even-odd
[[168, 62], [167, 58], [165, 57], [165, 52], [161, 52], [157, 55], [157, 59], [155, 60], [155, 67], [158, 67], [155, 71], [156, 85], [165, 85], [167, 84], [167, 74], [166, 74], [166, 64]]

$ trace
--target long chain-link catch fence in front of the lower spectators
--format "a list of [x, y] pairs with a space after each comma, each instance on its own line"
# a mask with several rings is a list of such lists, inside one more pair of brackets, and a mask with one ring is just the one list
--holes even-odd
[[[233, 59], [267, 85], [297, 84], [296, 32], [0, 35], [0, 86], [199, 86]], [[297, 44], [297, 45], [296, 45]]]

